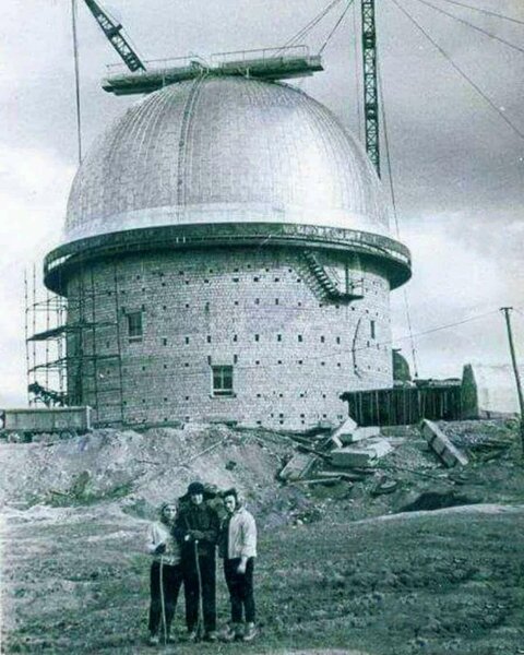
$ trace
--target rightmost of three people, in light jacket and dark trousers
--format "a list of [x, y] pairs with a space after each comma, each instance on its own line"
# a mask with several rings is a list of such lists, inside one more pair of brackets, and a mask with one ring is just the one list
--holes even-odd
[[[224, 576], [231, 605], [231, 622], [225, 641], [252, 641], [257, 634], [253, 594], [257, 524], [242, 505], [236, 489], [223, 492], [227, 516], [221, 526], [219, 555], [224, 559]], [[246, 619], [243, 629], [242, 618]]]

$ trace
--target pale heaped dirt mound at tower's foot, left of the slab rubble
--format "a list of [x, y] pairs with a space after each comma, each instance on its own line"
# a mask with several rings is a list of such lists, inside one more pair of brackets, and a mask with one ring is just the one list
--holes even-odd
[[236, 487], [271, 527], [318, 513], [302, 490], [283, 489], [276, 479], [293, 449], [285, 436], [209, 425], [8, 443], [0, 446], [0, 503], [25, 509], [117, 503], [152, 517], [164, 500], [179, 498], [200, 479], [218, 489]]

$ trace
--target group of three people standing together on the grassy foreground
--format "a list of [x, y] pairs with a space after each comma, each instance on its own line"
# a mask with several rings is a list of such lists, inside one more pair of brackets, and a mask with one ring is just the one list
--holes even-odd
[[[253, 570], [257, 525], [236, 489], [219, 495], [223, 516], [204, 501], [204, 486], [191, 483], [181, 507], [164, 503], [147, 533], [151, 567], [150, 644], [171, 642], [170, 627], [183, 584], [188, 640], [252, 641], [257, 635]], [[186, 502], [183, 502], [186, 501]], [[216, 547], [224, 560], [230, 622], [216, 631]], [[202, 603], [202, 616], [200, 604]], [[245, 622], [243, 622], [245, 619]]]

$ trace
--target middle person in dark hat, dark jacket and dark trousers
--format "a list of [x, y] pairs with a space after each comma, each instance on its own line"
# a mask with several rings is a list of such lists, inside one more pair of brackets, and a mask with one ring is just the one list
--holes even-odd
[[216, 641], [216, 558], [218, 517], [204, 503], [204, 486], [191, 483], [189, 502], [177, 515], [175, 536], [181, 545], [186, 592], [186, 623], [190, 641], [199, 636], [199, 605], [202, 594], [204, 639]]

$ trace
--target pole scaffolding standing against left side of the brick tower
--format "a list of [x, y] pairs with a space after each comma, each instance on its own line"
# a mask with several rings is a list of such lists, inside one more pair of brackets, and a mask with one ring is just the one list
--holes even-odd
[[[38, 288], [35, 267], [31, 275], [26, 272], [24, 285], [29, 406], [90, 405], [95, 425], [121, 425], [124, 404], [116, 264], [109, 293], [114, 302], [107, 302], [107, 289], [97, 290], [93, 269], [78, 272], [68, 286], [68, 297]], [[106, 301], [100, 307], [102, 297]], [[107, 376], [103, 367], [116, 374]]]

